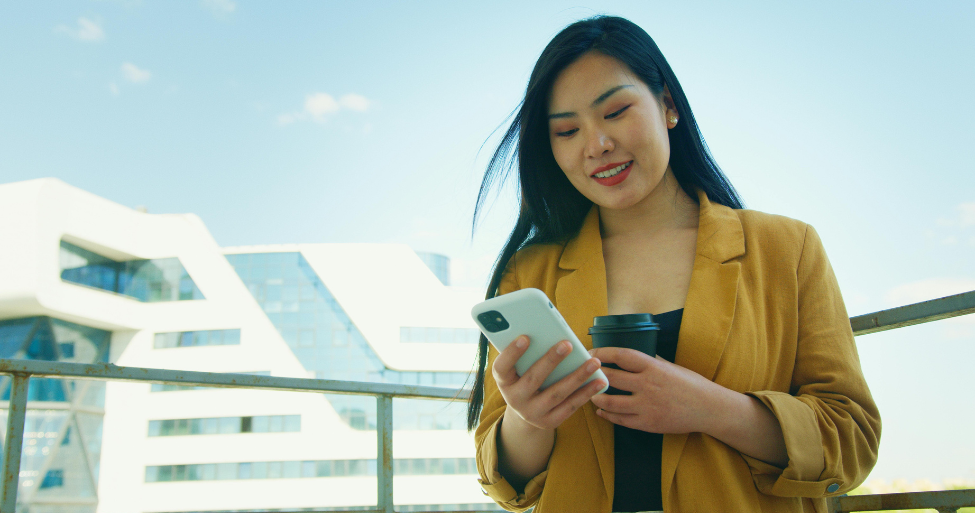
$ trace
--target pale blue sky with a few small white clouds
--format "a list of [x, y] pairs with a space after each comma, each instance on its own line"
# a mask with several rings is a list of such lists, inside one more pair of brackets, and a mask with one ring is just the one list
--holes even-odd
[[[223, 246], [402, 242], [482, 286], [512, 220], [509, 190], [471, 239], [492, 132], [597, 13], [655, 38], [750, 208], [817, 228], [851, 315], [975, 289], [970, 2], [6, 2], [0, 182]], [[858, 344], [873, 477], [975, 481], [975, 316]]]

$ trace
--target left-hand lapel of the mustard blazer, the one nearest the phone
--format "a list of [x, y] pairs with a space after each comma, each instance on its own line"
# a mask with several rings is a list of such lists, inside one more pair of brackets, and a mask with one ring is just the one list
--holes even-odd
[[[606, 315], [606, 265], [599, 235], [599, 209], [589, 211], [579, 235], [566, 244], [559, 267], [572, 271], [555, 286], [555, 301], [576, 337], [592, 349], [589, 327], [596, 316]], [[613, 496], [613, 424], [596, 415], [592, 403], [582, 407], [603, 478], [606, 496]]]

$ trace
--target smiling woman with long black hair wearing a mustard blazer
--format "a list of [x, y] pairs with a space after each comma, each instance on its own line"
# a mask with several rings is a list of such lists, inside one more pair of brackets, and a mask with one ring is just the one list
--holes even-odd
[[[657, 358], [594, 350], [545, 390], [567, 343], [519, 377], [531, 341], [498, 354], [482, 337], [468, 425], [485, 493], [537, 513], [823, 512], [863, 481], [880, 418], [819, 238], [742, 209], [646, 32], [597, 17], [549, 43], [478, 207], [512, 149], [521, 211], [487, 296], [539, 288], [586, 345], [599, 315], [662, 330]], [[600, 363], [631, 395], [581, 387]]]

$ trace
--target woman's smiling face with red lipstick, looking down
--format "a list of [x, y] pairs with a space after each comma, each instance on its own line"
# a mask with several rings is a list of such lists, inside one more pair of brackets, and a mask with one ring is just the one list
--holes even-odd
[[559, 74], [548, 104], [549, 140], [555, 161], [583, 196], [610, 209], [651, 197], [668, 170], [667, 129], [677, 116], [669, 93], [661, 96], [599, 52]]

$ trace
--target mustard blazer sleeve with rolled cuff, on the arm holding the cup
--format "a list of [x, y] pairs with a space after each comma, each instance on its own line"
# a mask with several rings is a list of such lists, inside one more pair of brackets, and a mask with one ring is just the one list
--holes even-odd
[[791, 389], [749, 393], [778, 419], [789, 461], [783, 469], [744, 458], [763, 493], [840, 495], [862, 483], [877, 461], [880, 414], [863, 377], [839, 285], [811, 226], [796, 278], [799, 325]]

